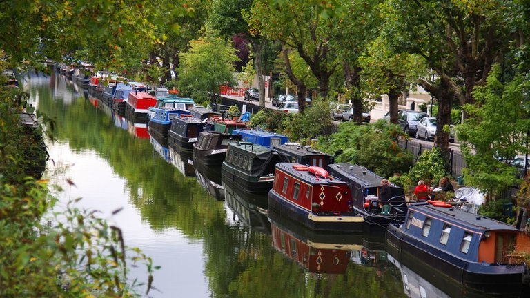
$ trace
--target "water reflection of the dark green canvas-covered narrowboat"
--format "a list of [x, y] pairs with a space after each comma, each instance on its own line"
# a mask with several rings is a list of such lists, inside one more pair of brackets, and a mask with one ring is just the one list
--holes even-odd
[[237, 217], [239, 222], [251, 230], [271, 234], [271, 223], [267, 219], [266, 210], [267, 196], [238, 192], [230, 184], [222, 180], [224, 199], [233, 212], [233, 219]]

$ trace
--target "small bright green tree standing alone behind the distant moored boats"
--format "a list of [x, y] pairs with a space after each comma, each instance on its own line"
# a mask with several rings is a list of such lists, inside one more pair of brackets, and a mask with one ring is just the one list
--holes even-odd
[[219, 93], [221, 85], [234, 83], [235, 50], [215, 30], [207, 28], [200, 39], [190, 41], [189, 51], [179, 59], [179, 90], [199, 103], [208, 100], [209, 92]]

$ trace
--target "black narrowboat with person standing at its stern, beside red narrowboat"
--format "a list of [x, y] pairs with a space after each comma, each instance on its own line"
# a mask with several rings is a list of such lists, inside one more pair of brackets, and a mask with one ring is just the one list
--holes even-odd
[[379, 175], [349, 163], [333, 163], [326, 169], [333, 177], [349, 183], [353, 208], [364, 217], [364, 222], [387, 225], [404, 221], [408, 207], [403, 188], [390, 183], [391, 198], [389, 201], [378, 201], [383, 179]]

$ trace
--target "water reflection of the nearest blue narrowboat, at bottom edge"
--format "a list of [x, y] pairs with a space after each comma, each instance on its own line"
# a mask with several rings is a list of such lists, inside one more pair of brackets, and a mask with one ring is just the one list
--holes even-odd
[[387, 257], [389, 263], [394, 264], [399, 270], [404, 292], [409, 297], [488, 297], [486, 293], [473, 292], [460, 283], [437, 276], [433, 267], [417, 259], [400, 262], [390, 253], [387, 254]]

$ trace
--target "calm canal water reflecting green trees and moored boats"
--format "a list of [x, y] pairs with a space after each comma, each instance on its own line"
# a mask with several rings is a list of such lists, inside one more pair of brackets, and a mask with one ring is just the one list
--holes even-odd
[[[268, 215], [266, 197], [226, 188], [219, 169], [193, 168], [145, 124], [61, 74], [30, 74], [23, 84], [32, 106], [55, 120], [45, 175], [63, 188], [56, 208], [81, 198], [76, 206], [119, 226], [127, 246], [161, 266], [150, 297], [467, 296], [426, 280], [429, 268], [397, 262], [382, 230], [315, 235]], [[143, 268], [132, 269], [146, 281]]]

